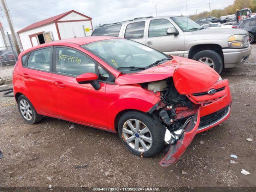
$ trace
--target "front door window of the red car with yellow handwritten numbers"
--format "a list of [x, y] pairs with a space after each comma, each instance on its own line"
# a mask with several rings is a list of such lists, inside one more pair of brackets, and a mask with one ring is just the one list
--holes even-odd
[[76, 50], [57, 47], [56, 72], [71, 76], [78, 76], [83, 73], [96, 73], [95, 63]]

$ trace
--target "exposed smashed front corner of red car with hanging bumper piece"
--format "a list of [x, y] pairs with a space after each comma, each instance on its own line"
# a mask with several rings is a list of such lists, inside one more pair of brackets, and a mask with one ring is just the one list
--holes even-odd
[[200, 123], [201, 105], [192, 103], [178, 93], [172, 78], [144, 83], [142, 87], [154, 92], [161, 100], [149, 113], [156, 114], [166, 128], [164, 141], [168, 144], [161, 166], [174, 164], [192, 142]]

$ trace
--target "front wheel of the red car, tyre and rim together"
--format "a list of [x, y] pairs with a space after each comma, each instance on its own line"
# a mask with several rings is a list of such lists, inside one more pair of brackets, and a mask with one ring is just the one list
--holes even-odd
[[159, 119], [142, 112], [123, 114], [118, 121], [118, 134], [126, 148], [137, 156], [155, 156], [164, 146], [164, 126]]

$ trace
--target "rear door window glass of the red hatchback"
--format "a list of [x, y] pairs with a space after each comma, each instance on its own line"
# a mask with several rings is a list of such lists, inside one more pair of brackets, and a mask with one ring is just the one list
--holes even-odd
[[44, 48], [30, 53], [28, 68], [50, 71], [50, 56], [52, 48]]

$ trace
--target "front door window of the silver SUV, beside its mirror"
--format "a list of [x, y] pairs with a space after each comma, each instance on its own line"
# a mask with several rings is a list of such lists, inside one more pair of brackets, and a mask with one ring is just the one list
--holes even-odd
[[149, 24], [148, 37], [167, 36], [167, 29], [174, 26], [166, 19], [151, 20]]

